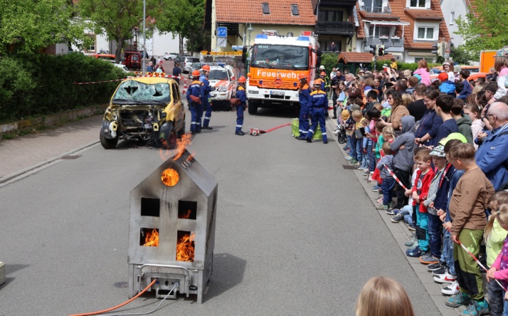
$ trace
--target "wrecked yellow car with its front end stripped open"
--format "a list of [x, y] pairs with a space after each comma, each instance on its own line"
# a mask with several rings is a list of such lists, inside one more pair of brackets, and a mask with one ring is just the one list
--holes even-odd
[[185, 132], [179, 85], [162, 77], [122, 81], [111, 98], [100, 130], [100, 144], [113, 149], [120, 139], [145, 141], [173, 149]]

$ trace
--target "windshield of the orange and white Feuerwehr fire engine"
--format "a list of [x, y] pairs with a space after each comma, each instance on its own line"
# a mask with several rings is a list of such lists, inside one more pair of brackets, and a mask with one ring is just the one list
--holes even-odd
[[255, 44], [251, 65], [260, 68], [307, 69], [309, 67], [309, 48]]

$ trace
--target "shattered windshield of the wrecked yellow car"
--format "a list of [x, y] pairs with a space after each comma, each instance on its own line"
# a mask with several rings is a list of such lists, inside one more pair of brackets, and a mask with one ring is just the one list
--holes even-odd
[[168, 83], [147, 84], [129, 80], [120, 84], [112, 100], [132, 100], [134, 104], [139, 104], [138, 101], [167, 103], [171, 101], [171, 88]]

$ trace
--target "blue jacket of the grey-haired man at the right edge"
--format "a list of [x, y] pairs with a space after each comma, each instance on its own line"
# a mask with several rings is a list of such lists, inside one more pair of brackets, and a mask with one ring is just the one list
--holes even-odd
[[492, 130], [492, 134], [478, 147], [475, 154], [476, 164], [485, 173], [485, 177], [490, 180], [496, 191], [501, 184], [508, 181], [508, 170], [506, 168], [508, 160], [508, 123], [503, 127]]

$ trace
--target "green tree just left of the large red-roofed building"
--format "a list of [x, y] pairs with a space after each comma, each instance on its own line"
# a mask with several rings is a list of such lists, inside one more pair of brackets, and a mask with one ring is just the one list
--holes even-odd
[[187, 50], [194, 53], [210, 45], [210, 37], [203, 32], [205, 1], [203, 0], [159, 0], [161, 11], [157, 14], [157, 28], [180, 36], [180, 53], [183, 53], [183, 38], [187, 38]]

